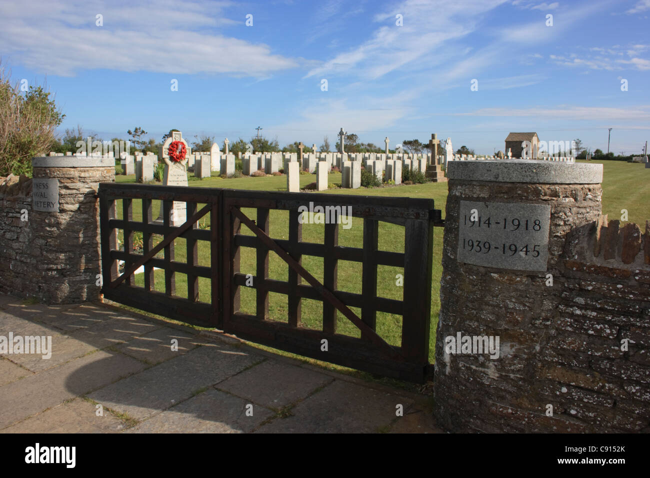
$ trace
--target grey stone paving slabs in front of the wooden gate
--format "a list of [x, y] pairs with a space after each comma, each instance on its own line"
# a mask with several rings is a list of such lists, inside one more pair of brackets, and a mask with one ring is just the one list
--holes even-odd
[[99, 302], [0, 294], [10, 333], [51, 356], [0, 353], [3, 433], [441, 432], [425, 395]]

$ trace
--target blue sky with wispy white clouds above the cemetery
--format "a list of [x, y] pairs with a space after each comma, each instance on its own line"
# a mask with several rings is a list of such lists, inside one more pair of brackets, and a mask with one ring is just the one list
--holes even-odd
[[141, 126], [221, 144], [261, 126], [280, 146], [333, 148], [343, 127], [481, 154], [509, 131], [606, 150], [611, 127], [612, 152], [639, 153], [649, 16], [650, 0], [5, 1], [0, 55], [14, 81], [47, 79], [61, 132], [103, 139]]

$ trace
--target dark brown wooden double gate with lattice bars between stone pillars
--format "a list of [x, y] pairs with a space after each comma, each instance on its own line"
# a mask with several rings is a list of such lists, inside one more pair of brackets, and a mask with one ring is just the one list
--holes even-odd
[[[433, 226], [440, 213], [434, 210], [433, 200], [115, 183], [100, 184], [99, 198], [102, 291], [107, 299], [326, 362], [414, 382], [426, 377]], [[115, 202], [120, 199], [122, 219], [116, 217]], [[153, 220], [152, 200], [162, 200], [162, 222]], [[142, 215], [134, 220], [136, 201], [141, 202]], [[187, 202], [187, 222], [181, 226], [170, 225], [172, 201]], [[309, 207], [309, 202], [312, 209], [328, 208], [321, 217], [326, 223], [320, 242], [302, 240], [299, 208]], [[271, 218], [280, 214], [274, 211], [288, 215], [286, 238], [271, 237]], [[363, 223], [362, 247], [339, 245], [338, 218], [347, 212]], [[380, 222], [403, 226], [404, 252], [379, 249]], [[122, 248], [116, 243], [118, 230], [123, 231]], [[136, 232], [142, 233], [142, 248], [134, 253]], [[161, 240], [157, 245], [153, 235]], [[175, 239], [185, 240], [185, 261], [175, 257]], [[200, 241], [209, 246], [209, 264], [198, 263]], [[254, 275], [240, 271], [241, 248], [255, 250]], [[285, 263], [287, 280], [269, 277], [271, 256]], [[322, 258], [322, 271], [307, 271], [304, 256]], [[122, 272], [118, 272], [120, 260]], [[339, 261], [361, 266], [361, 293], [339, 290]], [[402, 300], [378, 297], [378, 266], [382, 265], [403, 268]], [[140, 266], [144, 266], [144, 280], [136, 284], [133, 272]], [[164, 272], [164, 287], [155, 287], [154, 267]], [[176, 294], [177, 274], [187, 275], [187, 297]], [[209, 294], [203, 292], [205, 287]], [[241, 310], [242, 287], [254, 289], [254, 313]], [[286, 321], [270, 319], [270, 293], [287, 296]], [[305, 299], [322, 303], [318, 330], [302, 323]], [[402, 317], [399, 345], [390, 345], [378, 334], [378, 312]], [[341, 320], [350, 321], [360, 334], [342, 333], [337, 327]]]

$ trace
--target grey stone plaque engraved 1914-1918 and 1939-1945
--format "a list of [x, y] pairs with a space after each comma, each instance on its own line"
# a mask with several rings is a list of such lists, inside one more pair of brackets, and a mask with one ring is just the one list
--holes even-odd
[[545, 204], [461, 201], [458, 261], [498, 269], [546, 271], [550, 222], [551, 206]]

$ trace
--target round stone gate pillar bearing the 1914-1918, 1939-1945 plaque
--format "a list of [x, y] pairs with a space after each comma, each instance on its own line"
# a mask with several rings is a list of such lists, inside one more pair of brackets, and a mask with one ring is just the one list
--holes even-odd
[[[567, 233], [601, 214], [603, 166], [534, 160], [447, 163], [438, 423], [450, 431], [580, 431], [547, 414], [558, 390], [538, 374], [556, 347]], [[552, 285], [549, 285], [552, 284]], [[559, 347], [562, 347], [561, 345]], [[549, 398], [551, 397], [551, 398]]]

